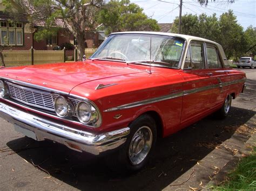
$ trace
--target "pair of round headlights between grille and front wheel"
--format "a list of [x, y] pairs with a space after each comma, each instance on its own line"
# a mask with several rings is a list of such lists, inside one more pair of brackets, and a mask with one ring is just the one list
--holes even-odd
[[75, 115], [81, 123], [93, 126], [99, 121], [99, 112], [96, 107], [87, 101], [80, 101], [75, 108], [74, 104], [63, 96], [58, 96], [55, 100], [55, 112], [59, 117], [71, 117]]

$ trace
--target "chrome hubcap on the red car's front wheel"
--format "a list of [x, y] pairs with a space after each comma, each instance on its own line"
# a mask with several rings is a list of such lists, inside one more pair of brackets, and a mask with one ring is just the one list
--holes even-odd
[[142, 162], [150, 152], [152, 145], [152, 131], [148, 126], [142, 126], [134, 133], [130, 148], [129, 159], [133, 165]]

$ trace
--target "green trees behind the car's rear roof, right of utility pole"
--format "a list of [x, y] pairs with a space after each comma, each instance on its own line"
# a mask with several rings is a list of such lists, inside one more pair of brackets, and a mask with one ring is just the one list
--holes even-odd
[[[178, 32], [178, 22], [179, 18], [177, 17], [172, 26], [174, 33]], [[216, 17], [215, 13], [211, 16], [204, 13], [199, 16], [184, 15], [181, 17], [181, 34], [206, 38], [221, 44], [227, 58], [234, 57], [237, 59], [239, 56], [245, 55], [248, 49], [256, 44], [255, 30], [249, 27], [244, 32], [231, 10], [223, 13], [219, 18]], [[254, 38], [252, 38], [253, 34]], [[251, 51], [255, 51], [254, 48], [256, 49], [254, 46]]]

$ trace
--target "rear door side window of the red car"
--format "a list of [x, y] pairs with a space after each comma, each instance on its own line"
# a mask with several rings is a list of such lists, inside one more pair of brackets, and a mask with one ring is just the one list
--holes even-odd
[[208, 68], [222, 68], [218, 50], [214, 46], [206, 46]]

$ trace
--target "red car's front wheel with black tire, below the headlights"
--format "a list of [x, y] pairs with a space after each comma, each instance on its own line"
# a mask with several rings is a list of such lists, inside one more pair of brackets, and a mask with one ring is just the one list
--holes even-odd
[[[152, 117], [149, 115], [142, 115], [134, 120], [129, 127], [130, 135], [123, 147], [106, 158], [107, 165], [113, 171], [139, 171], [146, 165], [154, 146], [156, 145], [157, 128], [156, 122]], [[144, 131], [144, 134], [140, 137], [139, 133], [142, 133], [141, 131]], [[151, 143], [149, 137], [151, 137]], [[140, 149], [142, 150], [139, 152]], [[137, 160], [131, 155], [135, 150], [138, 152]], [[136, 155], [134, 152], [132, 154]], [[143, 154], [145, 154], [145, 156]]]

